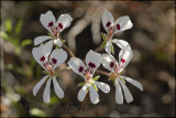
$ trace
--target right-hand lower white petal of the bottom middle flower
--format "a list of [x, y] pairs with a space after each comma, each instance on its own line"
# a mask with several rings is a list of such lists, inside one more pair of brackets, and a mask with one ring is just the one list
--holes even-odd
[[95, 85], [97, 85], [97, 87], [99, 87], [105, 93], [110, 92], [110, 87], [109, 87], [108, 84], [105, 84], [105, 83], [101, 83], [101, 82], [95, 82]]

